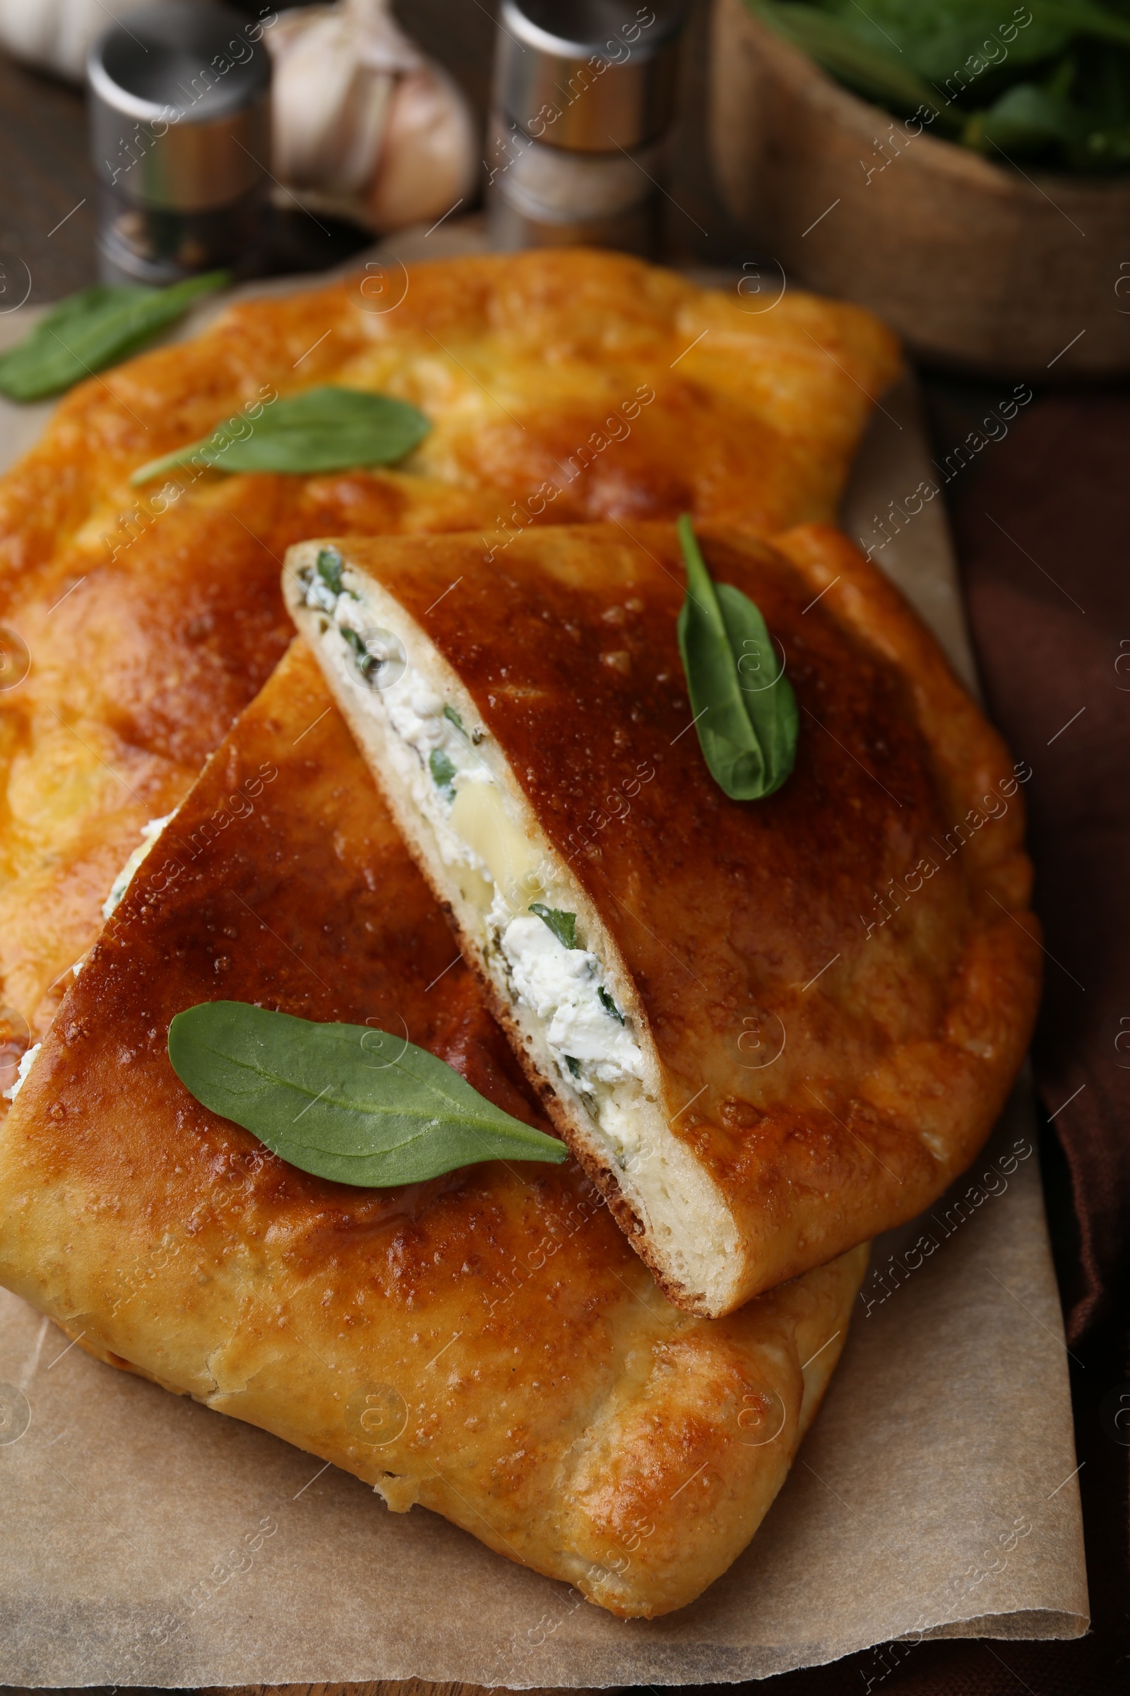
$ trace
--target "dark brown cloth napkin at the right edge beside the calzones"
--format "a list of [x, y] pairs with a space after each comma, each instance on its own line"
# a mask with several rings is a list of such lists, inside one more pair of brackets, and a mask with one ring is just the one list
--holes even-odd
[[1039, 404], [956, 531], [989, 712], [1035, 772], [1035, 1070], [1071, 1172], [1079, 1340], [1125, 1313], [1130, 1272], [1130, 402]]

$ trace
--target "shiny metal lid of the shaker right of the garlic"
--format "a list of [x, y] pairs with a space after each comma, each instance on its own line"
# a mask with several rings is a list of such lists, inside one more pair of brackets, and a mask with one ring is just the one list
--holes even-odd
[[683, 0], [503, 0], [495, 100], [551, 148], [639, 148], [671, 120], [684, 17]]

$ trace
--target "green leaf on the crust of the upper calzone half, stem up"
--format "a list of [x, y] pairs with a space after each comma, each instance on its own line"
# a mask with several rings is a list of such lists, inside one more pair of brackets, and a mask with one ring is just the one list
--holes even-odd
[[712, 580], [686, 514], [679, 541], [686, 600], [678, 636], [698, 745], [730, 801], [761, 801], [796, 760], [793, 685], [749, 595]]

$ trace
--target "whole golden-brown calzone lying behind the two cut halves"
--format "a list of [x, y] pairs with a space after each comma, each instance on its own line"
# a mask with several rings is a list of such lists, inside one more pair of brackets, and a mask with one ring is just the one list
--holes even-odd
[[[32, 653], [0, 700], [0, 975], [36, 1035], [141, 824], [281, 656], [291, 543], [688, 505], [771, 527], [830, 517], [867, 397], [898, 366], [857, 307], [788, 293], [751, 314], [622, 254], [457, 259], [393, 283], [232, 307], [76, 388], [0, 482], [0, 619]], [[173, 504], [129, 485], [244, 405], [329, 382], [424, 407], [417, 475], [207, 473]]]

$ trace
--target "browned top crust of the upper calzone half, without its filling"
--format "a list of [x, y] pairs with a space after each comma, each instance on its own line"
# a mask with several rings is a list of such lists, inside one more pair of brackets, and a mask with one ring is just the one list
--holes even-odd
[[[740, 1231], [725, 1306], [679, 1291], [640, 1219], [632, 1243], [673, 1301], [717, 1313], [913, 1218], [969, 1163], [1040, 953], [1025, 772], [898, 592], [830, 529], [779, 551], [700, 534], [801, 711], [796, 768], [761, 802], [725, 797], [690, 728], [667, 526], [337, 544], [466, 685], [627, 965], [669, 1128]], [[547, 1106], [622, 1214], [576, 1102]]]

